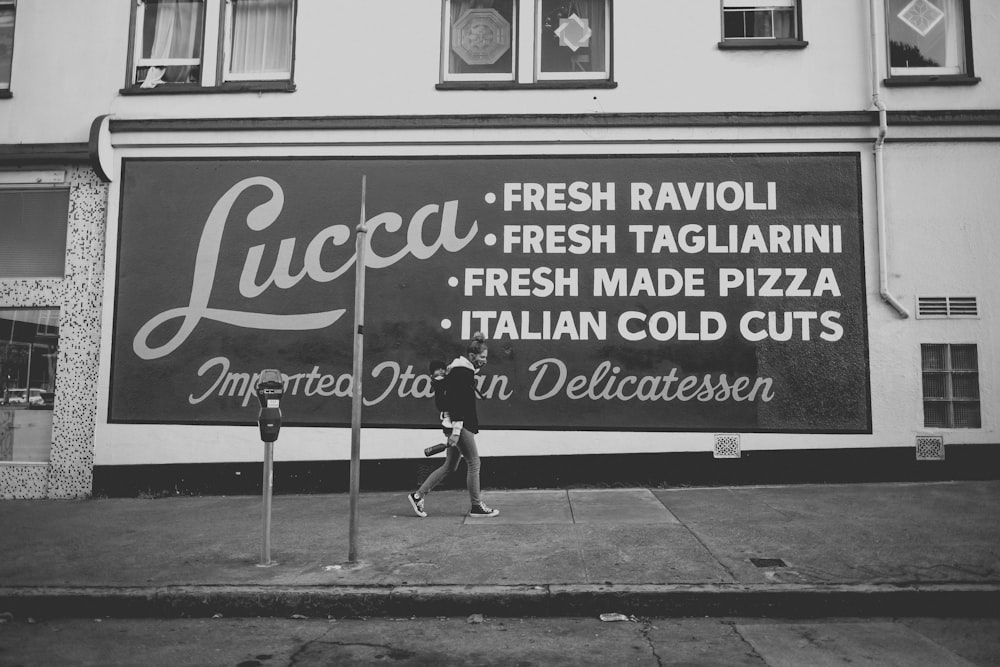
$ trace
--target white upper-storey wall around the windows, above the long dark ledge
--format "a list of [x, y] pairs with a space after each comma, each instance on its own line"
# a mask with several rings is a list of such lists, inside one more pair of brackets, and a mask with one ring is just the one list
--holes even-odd
[[[129, 0], [18, 6], [12, 100], [0, 144], [87, 140], [99, 115], [123, 118], [576, 114], [871, 109], [868, 3], [811, 0], [809, 45], [720, 50], [719, 4], [618, 2], [612, 89], [442, 91], [437, 0], [299, 3], [293, 93], [121, 95]], [[882, 90], [890, 109], [1000, 107], [1000, 9], [973, 0], [975, 86]], [[879, 19], [881, 22], [881, 15]], [[881, 25], [878, 26], [881, 35]], [[99, 38], [95, 38], [99, 35]], [[58, 48], [55, 48], [58, 45]], [[884, 77], [884, 45], [879, 43]]]

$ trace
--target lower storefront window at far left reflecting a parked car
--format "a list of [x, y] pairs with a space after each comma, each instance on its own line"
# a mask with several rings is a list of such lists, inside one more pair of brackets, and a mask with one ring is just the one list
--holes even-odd
[[0, 461], [48, 461], [59, 311], [0, 310]]

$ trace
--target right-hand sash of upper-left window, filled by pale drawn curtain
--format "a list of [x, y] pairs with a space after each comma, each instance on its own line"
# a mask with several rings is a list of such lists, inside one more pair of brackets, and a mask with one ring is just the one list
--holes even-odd
[[227, 80], [291, 78], [294, 10], [292, 0], [226, 3]]

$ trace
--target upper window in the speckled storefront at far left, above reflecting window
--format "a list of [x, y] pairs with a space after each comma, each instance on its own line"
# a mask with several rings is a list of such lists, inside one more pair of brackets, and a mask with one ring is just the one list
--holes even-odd
[[61, 278], [68, 218], [67, 189], [0, 188], [0, 279]]

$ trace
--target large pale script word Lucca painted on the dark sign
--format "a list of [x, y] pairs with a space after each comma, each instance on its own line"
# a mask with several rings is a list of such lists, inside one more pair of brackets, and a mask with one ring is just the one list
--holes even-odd
[[[313, 313], [282, 315], [209, 307], [209, 296], [215, 288], [216, 268], [219, 261], [219, 251], [222, 247], [223, 231], [229, 221], [234, 203], [244, 192], [253, 187], [267, 188], [271, 196], [267, 201], [247, 213], [247, 227], [259, 232], [270, 227], [278, 219], [284, 207], [285, 195], [281, 186], [266, 176], [244, 179], [230, 188], [219, 199], [212, 207], [208, 220], [205, 221], [201, 240], [198, 243], [188, 305], [159, 313], [139, 329], [132, 342], [132, 349], [141, 359], [159, 359], [167, 356], [188, 339], [202, 319], [224, 322], [247, 329], [304, 331], [328, 327], [346, 312], [344, 308], [336, 308]], [[438, 238], [428, 245], [423, 238], [424, 223], [432, 215], [438, 213], [441, 215], [440, 232]], [[391, 211], [379, 213], [367, 220], [369, 233], [367, 235], [366, 266], [372, 269], [384, 269], [409, 255], [417, 259], [428, 259], [442, 248], [449, 252], [458, 252], [475, 237], [478, 225], [473, 221], [468, 234], [460, 237], [455, 232], [457, 217], [457, 200], [447, 201], [443, 207], [437, 204], [423, 206], [410, 218], [406, 228], [405, 244], [396, 252], [382, 256], [372, 249], [372, 238], [379, 233], [394, 234], [400, 231], [403, 228], [403, 218], [398, 213]], [[329, 245], [343, 246], [350, 238], [351, 229], [347, 225], [331, 225], [321, 230], [306, 245], [302, 270], [296, 274], [291, 273], [290, 267], [298, 238], [293, 236], [282, 239], [278, 246], [275, 265], [272, 267], [270, 275], [260, 284], [256, 282], [256, 276], [260, 273], [261, 260], [264, 257], [266, 246], [253, 246], [247, 251], [246, 259], [243, 262], [238, 286], [239, 292], [247, 299], [254, 299], [269, 287], [287, 290], [306, 278], [317, 283], [336, 280], [354, 266], [357, 253], [352, 253], [343, 264], [330, 270], [322, 264], [323, 250]], [[181, 323], [173, 337], [162, 345], [150, 346], [149, 338], [153, 332], [160, 326], [176, 319], [180, 319]]]

